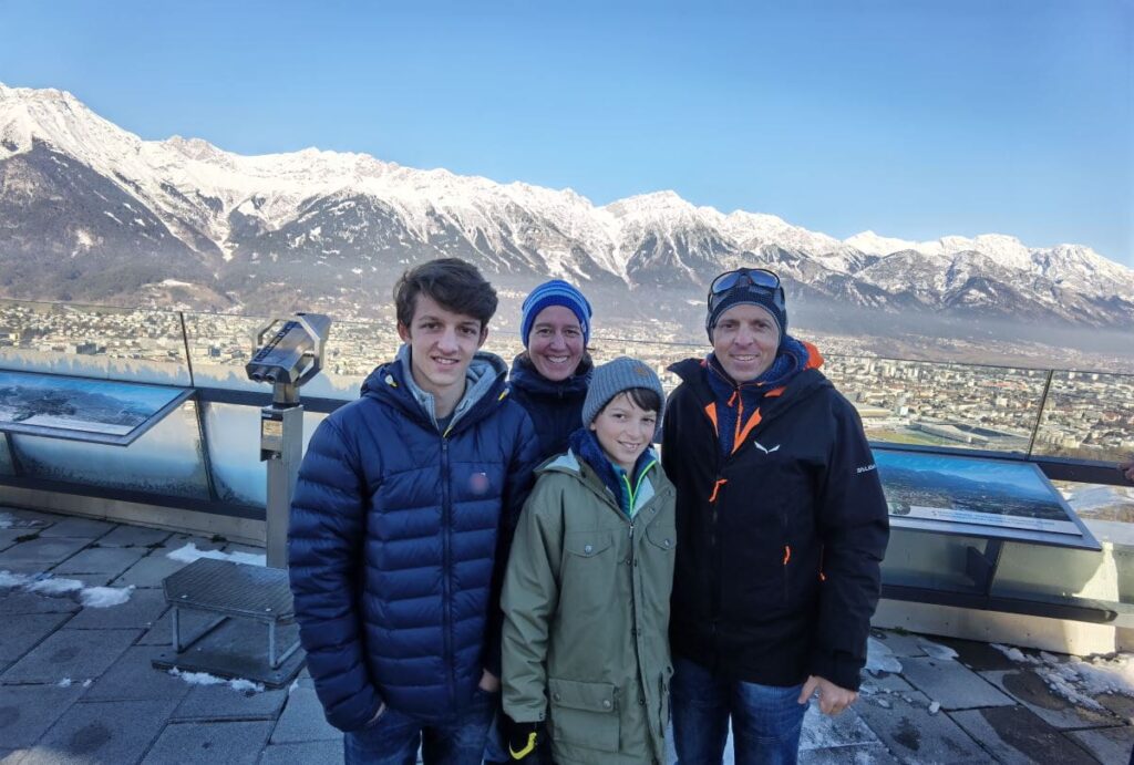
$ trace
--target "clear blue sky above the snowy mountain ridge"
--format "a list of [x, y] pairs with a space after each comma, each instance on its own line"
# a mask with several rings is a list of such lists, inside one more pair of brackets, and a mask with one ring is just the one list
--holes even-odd
[[0, 82], [144, 138], [1134, 265], [1134, 0], [0, 0]]

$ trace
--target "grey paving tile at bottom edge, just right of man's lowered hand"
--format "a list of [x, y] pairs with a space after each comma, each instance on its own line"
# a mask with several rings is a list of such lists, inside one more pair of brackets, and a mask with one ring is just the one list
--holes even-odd
[[[909, 697], [869, 699], [854, 708], [900, 762], [988, 763], [988, 754], [948, 715], [929, 713], [929, 698], [919, 692]], [[879, 705], [882, 700], [886, 705]]]

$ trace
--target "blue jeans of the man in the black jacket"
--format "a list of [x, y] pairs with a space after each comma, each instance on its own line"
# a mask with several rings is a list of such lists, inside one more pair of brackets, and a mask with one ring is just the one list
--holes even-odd
[[719, 765], [729, 717], [736, 765], [794, 765], [807, 711], [796, 702], [802, 689], [729, 680], [675, 656], [670, 697], [678, 765]]

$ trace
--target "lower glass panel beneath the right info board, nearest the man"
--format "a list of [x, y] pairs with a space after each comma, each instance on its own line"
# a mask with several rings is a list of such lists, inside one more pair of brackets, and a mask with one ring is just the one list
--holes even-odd
[[891, 528], [882, 561], [882, 583], [960, 593], [979, 592], [968, 571], [968, 549], [983, 552], [987, 541], [932, 532]]

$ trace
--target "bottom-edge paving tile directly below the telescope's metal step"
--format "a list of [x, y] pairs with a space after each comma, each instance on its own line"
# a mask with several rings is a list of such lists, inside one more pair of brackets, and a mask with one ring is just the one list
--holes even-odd
[[271, 722], [186, 723], [167, 725], [143, 763], [255, 765]]

